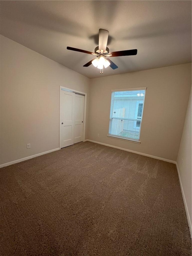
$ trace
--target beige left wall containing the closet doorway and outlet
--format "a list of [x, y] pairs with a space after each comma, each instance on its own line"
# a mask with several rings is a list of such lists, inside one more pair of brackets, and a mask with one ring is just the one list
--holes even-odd
[[59, 86], [89, 94], [87, 77], [1, 36], [1, 164], [59, 147]]

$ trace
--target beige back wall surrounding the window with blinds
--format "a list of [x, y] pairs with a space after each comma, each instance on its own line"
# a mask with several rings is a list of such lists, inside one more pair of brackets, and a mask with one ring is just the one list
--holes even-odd
[[[141, 144], [107, 137], [111, 89], [140, 87], [147, 87]], [[176, 161], [190, 87], [190, 63], [91, 79], [88, 139]]]

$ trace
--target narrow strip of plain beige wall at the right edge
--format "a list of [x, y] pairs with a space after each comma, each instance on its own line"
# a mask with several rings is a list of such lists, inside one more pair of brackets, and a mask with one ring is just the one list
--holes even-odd
[[192, 234], [192, 150], [191, 150], [191, 91], [189, 96], [189, 102], [187, 107], [187, 112], [185, 116], [185, 122], [183, 127], [183, 133], [181, 138], [181, 143], [179, 146], [179, 153], [177, 157], [177, 165], [179, 170], [180, 182], [184, 193], [184, 198], [186, 201], [185, 207], [187, 207], [187, 211], [189, 212], [188, 222], [190, 226], [190, 231]]

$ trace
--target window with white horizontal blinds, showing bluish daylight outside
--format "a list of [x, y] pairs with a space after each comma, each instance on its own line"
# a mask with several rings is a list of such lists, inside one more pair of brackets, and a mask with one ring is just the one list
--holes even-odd
[[146, 88], [112, 90], [109, 137], [140, 142]]

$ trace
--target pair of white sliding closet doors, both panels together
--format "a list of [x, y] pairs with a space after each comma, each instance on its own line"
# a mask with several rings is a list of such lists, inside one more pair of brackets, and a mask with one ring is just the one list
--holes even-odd
[[84, 95], [60, 91], [60, 148], [83, 140]]

